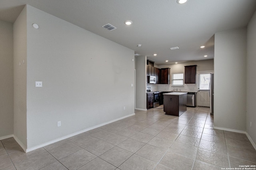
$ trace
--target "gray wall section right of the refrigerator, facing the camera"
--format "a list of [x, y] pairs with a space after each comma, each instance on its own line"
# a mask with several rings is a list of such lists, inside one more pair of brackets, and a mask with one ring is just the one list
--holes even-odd
[[246, 28], [215, 34], [214, 127], [246, 131]]

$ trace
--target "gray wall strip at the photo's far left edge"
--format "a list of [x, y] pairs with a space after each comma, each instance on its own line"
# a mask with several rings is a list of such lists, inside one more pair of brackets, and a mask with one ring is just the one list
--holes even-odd
[[0, 21], [0, 138], [13, 134], [13, 25]]

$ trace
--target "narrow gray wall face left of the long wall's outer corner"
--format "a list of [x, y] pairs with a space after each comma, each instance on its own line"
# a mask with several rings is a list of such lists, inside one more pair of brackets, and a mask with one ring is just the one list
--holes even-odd
[[[13, 26], [14, 37], [14, 135], [27, 146], [27, 24], [26, 8]], [[24, 62], [23, 62], [24, 61]]]

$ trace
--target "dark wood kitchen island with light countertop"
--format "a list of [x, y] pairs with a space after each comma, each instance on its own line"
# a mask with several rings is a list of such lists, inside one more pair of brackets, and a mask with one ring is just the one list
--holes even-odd
[[164, 112], [166, 115], [180, 116], [187, 111], [187, 93], [164, 93]]

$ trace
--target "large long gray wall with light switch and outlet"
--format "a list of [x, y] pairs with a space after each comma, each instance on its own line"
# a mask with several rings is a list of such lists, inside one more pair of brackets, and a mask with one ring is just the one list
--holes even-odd
[[31, 6], [25, 10], [28, 149], [134, 113], [133, 50]]

